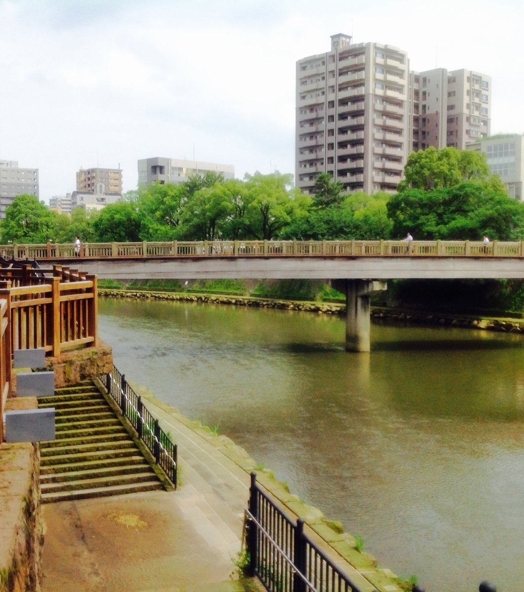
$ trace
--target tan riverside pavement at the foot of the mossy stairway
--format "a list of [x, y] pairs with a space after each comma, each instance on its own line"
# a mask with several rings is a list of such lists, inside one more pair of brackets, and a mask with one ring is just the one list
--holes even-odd
[[43, 592], [245, 589], [231, 574], [249, 474], [175, 417], [148, 407], [178, 444], [178, 490], [44, 504]]

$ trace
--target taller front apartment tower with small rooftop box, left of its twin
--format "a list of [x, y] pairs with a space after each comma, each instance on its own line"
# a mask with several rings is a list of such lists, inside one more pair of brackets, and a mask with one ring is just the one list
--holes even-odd
[[329, 52], [297, 62], [295, 184], [328, 172], [345, 191], [394, 191], [409, 150], [409, 61], [379, 43], [331, 37]]

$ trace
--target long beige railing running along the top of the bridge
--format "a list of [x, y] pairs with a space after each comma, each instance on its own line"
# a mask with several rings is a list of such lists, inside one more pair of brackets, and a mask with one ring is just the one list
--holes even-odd
[[[4, 258], [75, 259], [75, 244], [0, 245]], [[523, 257], [524, 241], [470, 240], [216, 240], [200, 242], [84, 243], [82, 258], [283, 257], [283, 256]]]

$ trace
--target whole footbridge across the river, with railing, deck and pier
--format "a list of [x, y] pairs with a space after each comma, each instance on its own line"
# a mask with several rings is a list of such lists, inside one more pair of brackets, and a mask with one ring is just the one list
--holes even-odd
[[108, 279], [331, 279], [346, 294], [346, 349], [369, 351], [369, 297], [388, 279], [524, 278], [523, 242], [216, 241], [0, 246], [4, 256]]

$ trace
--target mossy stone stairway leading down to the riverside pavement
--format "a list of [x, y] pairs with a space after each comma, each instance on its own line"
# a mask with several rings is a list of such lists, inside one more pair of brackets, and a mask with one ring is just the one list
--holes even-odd
[[163, 488], [91, 381], [59, 388], [51, 397], [40, 397], [38, 407], [56, 410], [56, 439], [40, 442], [44, 503]]

